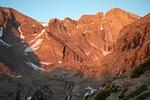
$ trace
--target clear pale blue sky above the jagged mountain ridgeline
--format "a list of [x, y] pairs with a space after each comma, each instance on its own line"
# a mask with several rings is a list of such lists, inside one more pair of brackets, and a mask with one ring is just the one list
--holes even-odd
[[12, 7], [46, 22], [56, 17], [78, 19], [83, 14], [95, 14], [115, 7], [140, 16], [150, 13], [150, 0], [0, 0], [0, 6]]

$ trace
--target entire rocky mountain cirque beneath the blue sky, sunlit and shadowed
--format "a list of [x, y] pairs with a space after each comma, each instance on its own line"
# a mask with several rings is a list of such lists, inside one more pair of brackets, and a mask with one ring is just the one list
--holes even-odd
[[[139, 100], [149, 94], [144, 79], [149, 80], [149, 59], [150, 15], [141, 18], [114, 8], [42, 26], [12, 8], [0, 8], [2, 100]], [[104, 76], [122, 80], [95, 89]], [[145, 83], [134, 82], [139, 80]], [[131, 84], [138, 89], [124, 92], [132, 90]]]

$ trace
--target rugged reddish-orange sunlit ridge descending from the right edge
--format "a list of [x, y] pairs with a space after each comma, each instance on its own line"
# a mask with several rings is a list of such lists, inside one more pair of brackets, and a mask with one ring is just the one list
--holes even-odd
[[[100, 70], [122, 74], [150, 59], [150, 16], [123, 28], [114, 51], [102, 60]], [[105, 71], [106, 71], [105, 70]]]

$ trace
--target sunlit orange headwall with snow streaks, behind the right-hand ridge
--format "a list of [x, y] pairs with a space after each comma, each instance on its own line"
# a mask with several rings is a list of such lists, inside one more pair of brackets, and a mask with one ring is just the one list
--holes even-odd
[[106, 14], [83, 15], [79, 20], [53, 19], [44, 28], [14, 9], [1, 8], [0, 11], [1, 43], [11, 45], [10, 49], [14, 47], [13, 50], [22, 56], [31, 56], [32, 53], [32, 57], [25, 57], [32, 59], [32, 62], [26, 61], [27, 64], [41, 66], [45, 71], [56, 64], [80, 66], [100, 61], [113, 50], [122, 35], [120, 30], [140, 18], [115, 8]]

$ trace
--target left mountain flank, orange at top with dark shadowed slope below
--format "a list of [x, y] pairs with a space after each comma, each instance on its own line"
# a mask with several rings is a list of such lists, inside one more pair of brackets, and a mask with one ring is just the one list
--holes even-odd
[[43, 26], [12, 8], [0, 8], [0, 14], [0, 64], [4, 68], [1, 72], [16, 75], [41, 70], [38, 57], [25, 50]]

